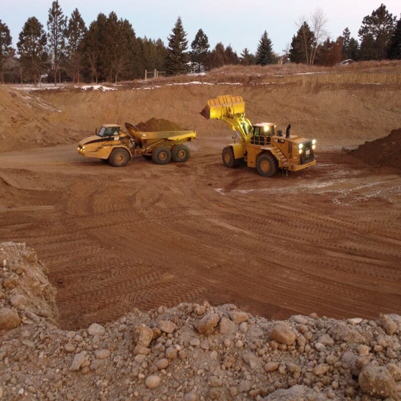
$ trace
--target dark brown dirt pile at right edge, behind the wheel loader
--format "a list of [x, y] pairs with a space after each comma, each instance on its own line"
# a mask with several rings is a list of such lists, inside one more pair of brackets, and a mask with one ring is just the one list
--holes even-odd
[[351, 155], [369, 164], [401, 170], [401, 128], [393, 129], [384, 138], [365, 142]]

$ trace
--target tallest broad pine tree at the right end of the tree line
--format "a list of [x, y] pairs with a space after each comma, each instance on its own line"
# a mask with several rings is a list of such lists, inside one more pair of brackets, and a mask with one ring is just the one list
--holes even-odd
[[361, 38], [360, 53], [362, 60], [386, 58], [387, 48], [395, 25], [396, 17], [393, 17], [383, 4], [377, 10], [373, 10], [370, 16], [363, 18], [358, 31]]

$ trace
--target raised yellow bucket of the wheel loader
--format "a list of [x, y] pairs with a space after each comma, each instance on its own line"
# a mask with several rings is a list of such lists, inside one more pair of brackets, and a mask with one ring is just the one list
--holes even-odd
[[216, 99], [208, 100], [204, 109], [200, 112], [207, 120], [222, 117], [232, 117], [234, 114], [245, 113], [245, 102], [241, 96], [223, 95]]

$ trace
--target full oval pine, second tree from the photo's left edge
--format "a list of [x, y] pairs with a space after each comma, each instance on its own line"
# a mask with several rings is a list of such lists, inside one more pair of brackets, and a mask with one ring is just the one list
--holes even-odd
[[28, 18], [20, 33], [17, 48], [22, 67], [33, 78], [36, 86], [48, 58], [46, 34], [36, 17]]

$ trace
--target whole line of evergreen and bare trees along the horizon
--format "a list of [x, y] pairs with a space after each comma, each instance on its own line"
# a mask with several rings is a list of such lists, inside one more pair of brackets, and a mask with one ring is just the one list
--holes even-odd
[[348, 28], [336, 40], [326, 31], [327, 18], [321, 9], [302, 16], [283, 55], [273, 52], [267, 31], [261, 35], [257, 51], [245, 48], [240, 55], [231, 45], [219, 42], [210, 49], [208, 36], [199, 29], [188, 48], [187, 34], [178, 17], [168, 45], [161, 39], [136, 37], [126, 19], [111, 12], [99, 14], [86, 27], [78, 9], [67, 18], [57, 1], [49, 9], [47, 30], [36, 17], [28, 18], [12, 47], [8, 26], [0, 20], [0, 79], [6, 82], [34, 82], [41, 79], [57, 84], [72, 82], [117, 82], [143, 76], [157, 69], [167, 75], [203, 71], [229, 64], [267, 65], [278, 61], [334, 65], [344, 59], [401, 59], [401, 18], [397, 21], [381, 4], [363, 18], [359, 41]]

